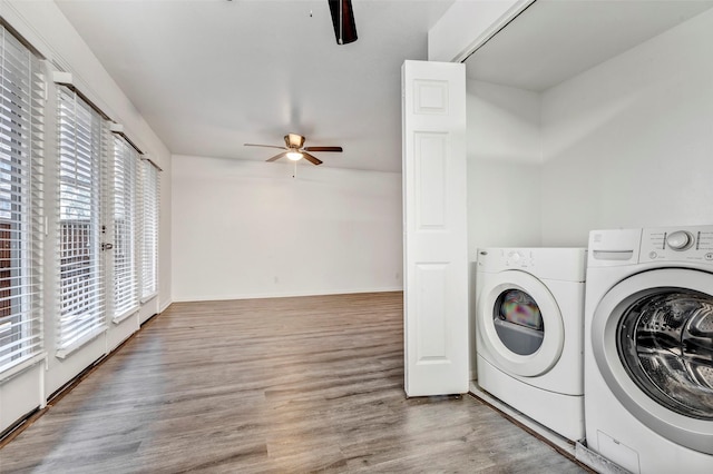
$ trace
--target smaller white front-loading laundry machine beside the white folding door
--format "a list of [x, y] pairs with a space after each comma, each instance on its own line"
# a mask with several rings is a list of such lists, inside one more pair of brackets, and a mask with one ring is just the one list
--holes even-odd
[[487, 248], [476, 269], [478, 385], [584, 438], [584, 248]]

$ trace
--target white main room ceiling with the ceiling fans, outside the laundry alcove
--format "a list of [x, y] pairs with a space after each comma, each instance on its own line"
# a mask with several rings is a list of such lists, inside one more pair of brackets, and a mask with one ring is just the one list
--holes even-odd
[[[264, 160], [297, 132], [322, 166], [401, 170], [401, 65], [452, 0], [56, 0], [173, 154]], [[312, 166], [305, 164], [306, 166]]]

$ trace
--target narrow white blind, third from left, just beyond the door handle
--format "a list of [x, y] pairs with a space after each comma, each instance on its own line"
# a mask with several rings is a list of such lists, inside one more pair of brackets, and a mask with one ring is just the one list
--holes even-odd
[[137, 170], [138, 152], [114, 138], [114, 320], [138, 309]]

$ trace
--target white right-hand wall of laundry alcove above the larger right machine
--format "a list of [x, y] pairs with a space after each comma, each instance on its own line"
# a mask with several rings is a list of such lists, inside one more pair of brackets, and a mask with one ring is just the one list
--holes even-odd
[[543, 243], [713, 223], [713, 11], [543, 95]]

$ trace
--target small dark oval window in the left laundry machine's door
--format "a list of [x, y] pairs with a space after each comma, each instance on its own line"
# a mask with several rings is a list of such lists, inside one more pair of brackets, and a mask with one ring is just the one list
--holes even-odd
[[526, 292], [502, 292], [496, 299], [492, 319], [498, 337], [515, 354], [535, 354], [543, 345], [543, 315], [535, 299]]

